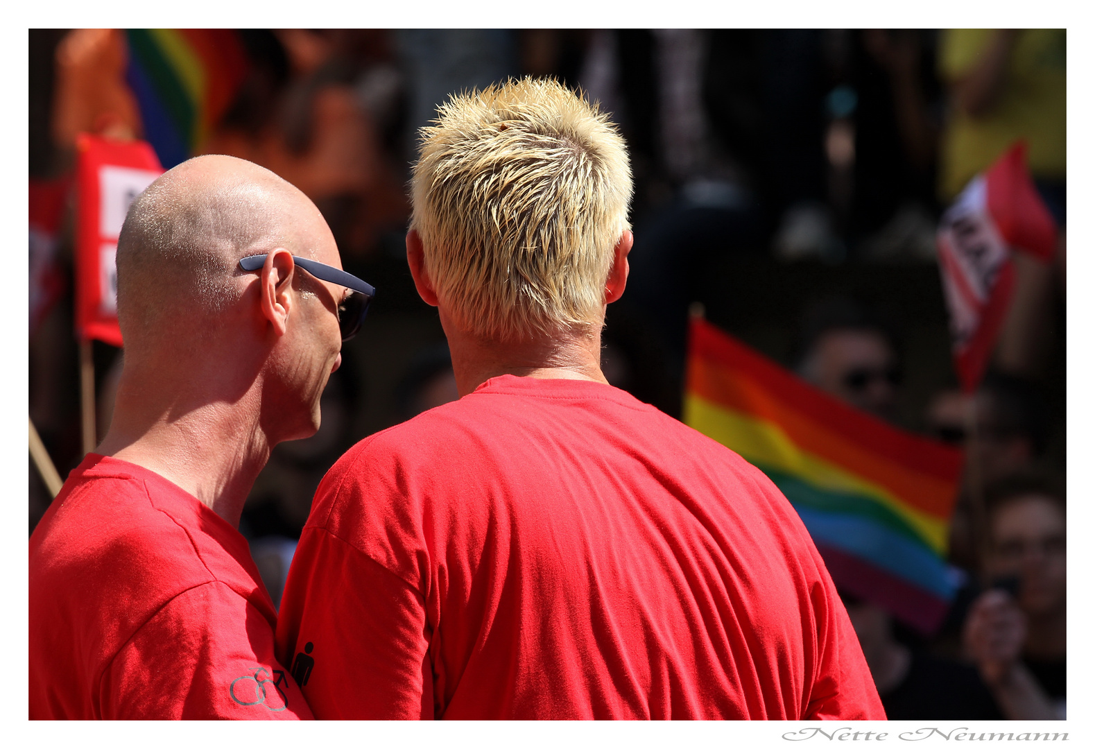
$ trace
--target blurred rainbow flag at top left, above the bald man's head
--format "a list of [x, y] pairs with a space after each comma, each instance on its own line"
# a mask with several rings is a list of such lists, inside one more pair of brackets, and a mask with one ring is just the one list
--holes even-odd
[[145, 139], [171, 169], [191, 155], [228, 110], [247, 70], [239, 35], [223, 28], [130, 28], [126, 82]]

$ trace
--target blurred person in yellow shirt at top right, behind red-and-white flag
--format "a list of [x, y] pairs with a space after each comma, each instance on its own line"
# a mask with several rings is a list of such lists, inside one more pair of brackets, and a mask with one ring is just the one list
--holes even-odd
[[995, 352], [1008, 373], [1046, 374], [1063, 308], [1067, 226], [1067, 32], [1064, 28], [948, 28], [940, 41], [949, 90], [940, 192], [950, 200], [1017, 140], [1030, 175], [1062, 229], [1050, 265], [1015, 253], [1015, 291]]

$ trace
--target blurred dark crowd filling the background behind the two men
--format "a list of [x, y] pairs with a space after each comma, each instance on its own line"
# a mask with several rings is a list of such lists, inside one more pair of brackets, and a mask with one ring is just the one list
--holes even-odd
[[[193, 154], [249, 159], [299, 186], [346, 269], [378, 289], [323, 395], [320, 431], [275, 450], [244, 511], [275, 602], [334, 460], [458, 396], [403, 254], [417, 129], [451, 92], [552, 76], [611, 113], [635, 174], [608, 379], [679, 416], [700, 301], [818, 388], [964, 449], [949, 552], [960, 590], [942, 630], [925, 638], [869, 601], [845, 604], [890, 717], [1063, 717], [1063, 30], [232, 34], [242, 73]], [[124, 32], [32, 31], [30, 46], [32, 189], [67, 178], [78, 132], [142, 136]], [[1048, 266], [1016, 260], [990, 373], [970, 395], [950, 369], [935, 230], [1018, 138], [1062, 241]], [[35, 254], [32, 235], [30, 411], [64, 476], [82, 449], [70, 201], [62, 211], [53, 244]], [[95, 344], [100, 435], [120, 366]], [[32, 465], [32, 529], [48, 504]]]

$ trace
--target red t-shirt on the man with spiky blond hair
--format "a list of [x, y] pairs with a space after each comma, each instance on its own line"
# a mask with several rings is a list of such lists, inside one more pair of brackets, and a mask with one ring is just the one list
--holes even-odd
[[884, 718], [780, 491], [606, 384], [505, 376], [316, 492], [278, 655], [321, 718]]

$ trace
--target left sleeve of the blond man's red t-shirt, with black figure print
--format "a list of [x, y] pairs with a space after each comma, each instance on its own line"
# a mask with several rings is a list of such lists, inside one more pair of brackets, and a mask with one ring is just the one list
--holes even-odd
[[412, 585], [327, 530], [304, 529], [281, 597], [278, 653], [318, 718], [431, 719], [428, 631]]

